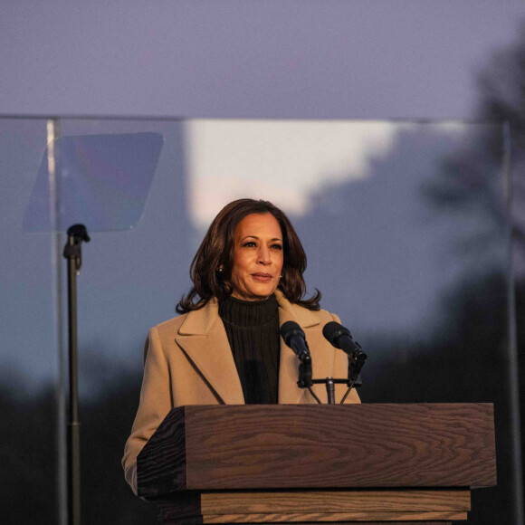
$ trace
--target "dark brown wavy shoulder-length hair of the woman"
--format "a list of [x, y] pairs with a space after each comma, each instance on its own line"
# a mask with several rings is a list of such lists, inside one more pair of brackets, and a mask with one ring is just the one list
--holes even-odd
[[[232, 294], [230, 281], [234, 263], [234, 234], [237, 224], [246, 215], [272, 214], [281, 226], [283, 256], [282, 278], [278, 289], [290, 302], [309, 310], [319, 310], [320, 291], [303, 300], [306, 284], [302, 277], [306, 270], [306, 253], [290, 220], [269, 201], [239, 199], [225, 205], [208, 228], [205, 238], [191, 263], [190, 277], [193, 287], [177, 304], [178, 313], [199, 310], [216, 297], [219, 301]], [[219, 267], [223, 272], [219, 272]]]

